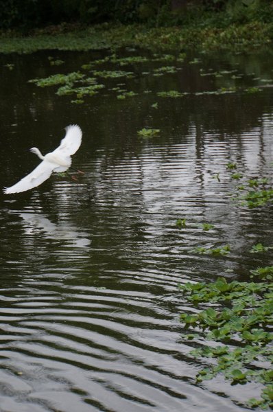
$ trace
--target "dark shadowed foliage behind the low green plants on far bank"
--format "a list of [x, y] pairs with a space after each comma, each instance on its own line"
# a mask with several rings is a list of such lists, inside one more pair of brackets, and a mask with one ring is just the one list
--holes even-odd
[[272, 2], [268, 0], [2, 0], [0, 29], [30, 30], [64, 21], [164, 26], [192, 21], [228, 25], [253, 19], [266, 23], [272, 18]]

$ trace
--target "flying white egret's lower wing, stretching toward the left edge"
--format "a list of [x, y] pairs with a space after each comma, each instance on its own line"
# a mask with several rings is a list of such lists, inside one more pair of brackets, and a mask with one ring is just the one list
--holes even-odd
[[21, 181], [15, 183], [11, 187], [4, 187], [3, 192], [5, 194], [25, 192], [25, 190], [32, 189], [43, 183], [49, 178], [56, 165], [49, 163], [49, 161], [43, 160], [31, 173], [23, 177]]

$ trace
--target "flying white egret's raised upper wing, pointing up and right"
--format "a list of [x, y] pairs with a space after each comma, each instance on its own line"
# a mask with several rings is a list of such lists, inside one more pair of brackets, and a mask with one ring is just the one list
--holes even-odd
[[65, 128], [66, 135], [60, 142], [60, 146], [54, 150], [54, 155], [67, 157], [77, 152], [82, 143], [82, 130], [77, 124], [71, 124]]

